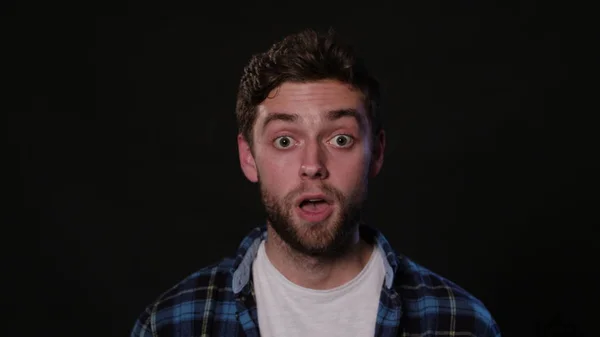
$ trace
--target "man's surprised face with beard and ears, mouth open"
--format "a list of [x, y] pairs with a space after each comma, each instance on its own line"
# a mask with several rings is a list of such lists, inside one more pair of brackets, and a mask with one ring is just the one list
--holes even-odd
[[[267, 220], [293, 249], [341, 253], [352, 239], [373, 152], [360, 91], [337, 81], [284, 83], [258, 106], [253, 151], [238, 137], [244, 173], [260, 184]], [[376, 147], [377, 148], [377, 147]]]

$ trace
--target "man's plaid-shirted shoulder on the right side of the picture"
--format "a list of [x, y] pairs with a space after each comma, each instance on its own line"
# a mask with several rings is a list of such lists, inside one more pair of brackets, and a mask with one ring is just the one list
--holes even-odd
[[399, 262], [394, 288], [408, 321], [424, 324], [432, 331], [500, 336], [494, 318], [478, 298], [406, 257], [400, 256]]

